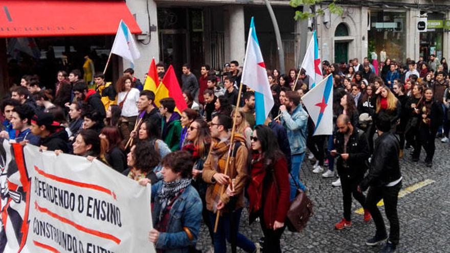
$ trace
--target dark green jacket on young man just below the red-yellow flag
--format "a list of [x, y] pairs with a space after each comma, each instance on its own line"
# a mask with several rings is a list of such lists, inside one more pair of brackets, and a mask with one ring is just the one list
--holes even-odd
[[181, 117], [178, 112], [174, 111], [168, 122], [166, 122], [165, 117], [161, 120], [161, 139], [169, 146], [172, 152], [179, 150], [179, 140], [181, 139], [182, 131], [179, 119], [181, 119]]

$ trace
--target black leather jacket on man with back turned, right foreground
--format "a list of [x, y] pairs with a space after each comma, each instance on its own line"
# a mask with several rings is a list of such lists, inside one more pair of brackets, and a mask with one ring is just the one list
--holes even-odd
[[390, 132], [384, 132], [375, 140], [375, 149], [369, 174], [359, 183], [361, 190], [371, 187], [384, 187], [401, 177], [398, 154], [400, 143]]

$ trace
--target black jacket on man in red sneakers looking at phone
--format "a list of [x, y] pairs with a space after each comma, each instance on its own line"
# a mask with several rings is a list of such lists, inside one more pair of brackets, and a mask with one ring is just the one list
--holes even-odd
[[358, 128], [353, 128], [353, 132], [350, 135], [347, 142], [347, 150], [344, 152], [344, 133], [335, 133], [334, 147], [338, 153], [348, 153], [348, 159], [344, 160], [341, 156], [338, 157], [338, 174], [344, 178], [363, 178], [364, 173], [368, 169], [369, 159], [369, 145], [367, 142], [367, 136], [364, 131]]

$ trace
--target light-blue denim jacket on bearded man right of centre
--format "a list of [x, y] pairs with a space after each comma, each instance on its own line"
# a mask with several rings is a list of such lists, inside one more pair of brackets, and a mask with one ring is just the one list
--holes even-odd
[[308, 113], [299, 104], [292, 114], [287, 111], [282, 112], [281, 124], [287, 130], [291, 154], [301, 154], [305, 152], [306, 138], [308, 137]]

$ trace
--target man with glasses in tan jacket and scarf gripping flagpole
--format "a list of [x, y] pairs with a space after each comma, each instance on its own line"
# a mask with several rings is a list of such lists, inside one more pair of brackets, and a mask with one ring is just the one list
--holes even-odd
[[[232, 125], [228, 115], [219, 114], [212, 119], [210, 131], [213, 142], [201, 176], [208, 183], [206, 208], [211, 224], [215, 223], [216, 213], [220, 210], [217, 233], [214, 233], [214, 252], [227, 252], [225, 241], [227, 239], [229, 242], [236, 242], [235, 245], [243, 251], [251, 253], [256, 252], [257, 246], [238, 232], [244, 207], [244, 188], [249, 177], [247, 173], [249, 150], [245, 146], [244, 137], [238, 133], [234, 135], [233, 143], [230, 144]], [[232, 145], [230, 164], [225, 174], [230, 145]], [[227, 187], [231, 179], [233, 179], [233, 196], [229, 196], [225, 191], [221, 192], [222, 186]]]

